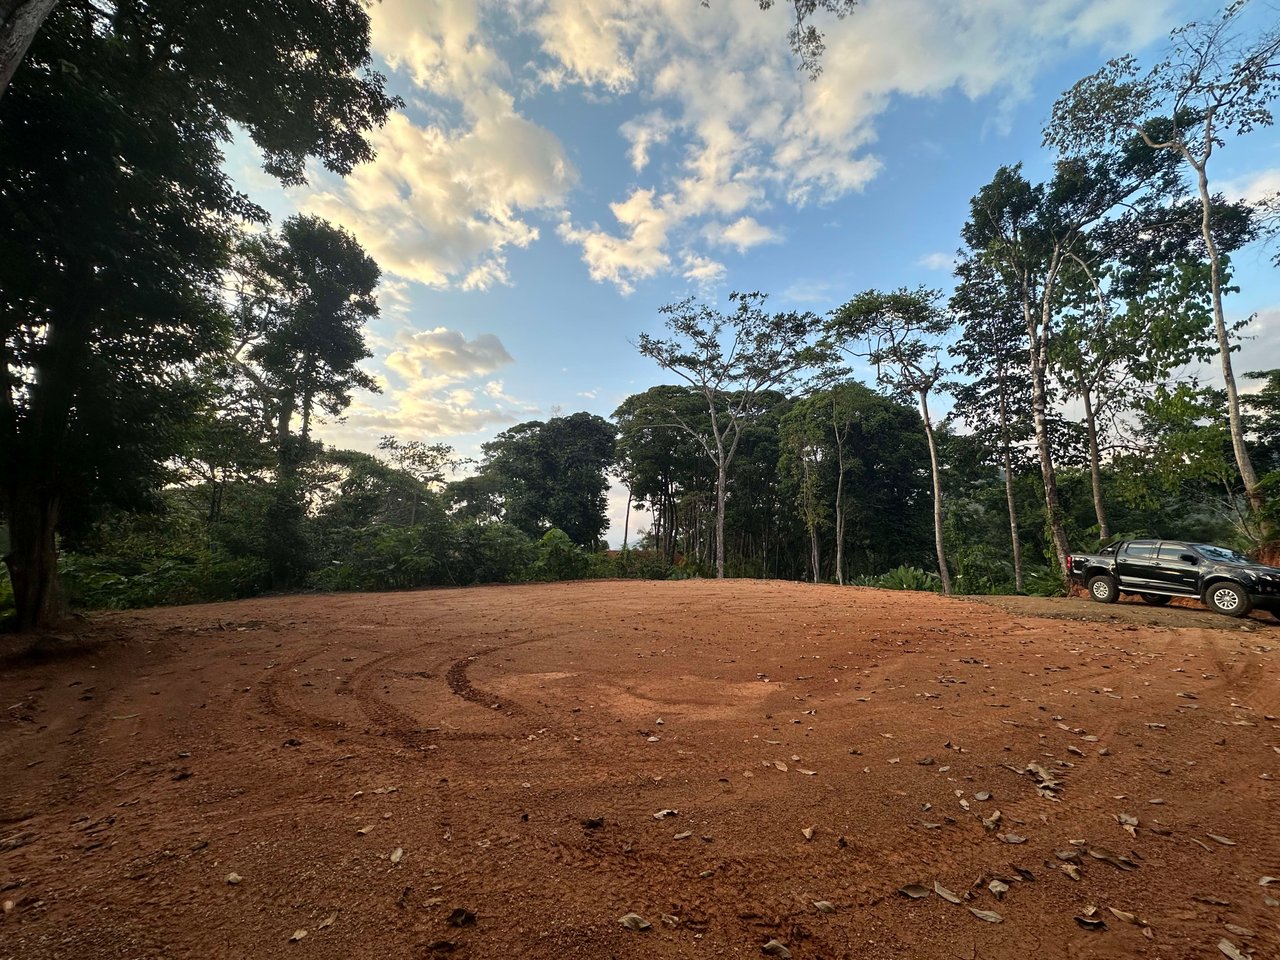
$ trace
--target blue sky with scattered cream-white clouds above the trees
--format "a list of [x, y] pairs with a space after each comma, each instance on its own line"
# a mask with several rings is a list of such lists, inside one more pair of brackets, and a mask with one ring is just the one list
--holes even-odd
[[[276, 223], [324, 216], [383, 269], [364, 364], [383, 392], [319, 438], [476, 457], [517, 422], [608, 417], [675, 383], [635, 343], [685, 297], [726, 308], [762, 291], [771, 310], [826, 314], [870, 288], [950, 292], [970, 197], [1004, 164], [1051, 175], [1053, 100], [1112, 56], [1155, 61], [1172, 28], [1220, 9], [863, 0], [819, 20], [812, 81], [787, 3], [380, 0], [375, 65], [404, 108], [371, 134], [378, 157], [288, 189], [247, 142], [228, 164]], [[1210, 174], [1233, 196], [1280, 189], [1280, 134], [1228, 141]], [[1274, 252], [1236, 255], [1229, 316], [1254, 316], [1238, 371], [1280, 366]], [[625, 499], [616, 484], [614, 545]]]

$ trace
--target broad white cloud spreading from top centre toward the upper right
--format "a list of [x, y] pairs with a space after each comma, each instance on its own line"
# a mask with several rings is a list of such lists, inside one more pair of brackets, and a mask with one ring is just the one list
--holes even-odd
[[[951, 92], [992, 101], [997, 125], [1037, 74], [1082, 45], [1138, 49], [1165, 32], [1174, 0], [867, 0], [827, 29], [823, 74], [806, 81], [786, 49], [787, 4], [691, 0], [527, 0], [564, 82], [630, 91], [653, 106], [620, 128], [632, 169], [655, 145], [682, 151], [631, 188], [660, 230], [566, 220], [591, 276], [622, 291], [672, 268], [669, 246], [699, 236], [740, 251], [765, 239], [772, 205], [826, 202], [882, 169], [877, 124], [901, 97]], [[717, 228], [730, 221], [730, 228]], [[754, 225], [754, 227], [753, 227]], [[751, 229], [749, 229], [749, 227]], [[739, 238], [732, 232], [737, 228]], [[696, 251], [695, 251], [696, 252]]]

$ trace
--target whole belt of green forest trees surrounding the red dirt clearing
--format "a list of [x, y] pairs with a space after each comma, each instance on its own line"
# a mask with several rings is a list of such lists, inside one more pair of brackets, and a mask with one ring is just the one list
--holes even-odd
[[379, 389], [380, 270], [321, 219], [270, 224], [223, 163], [233, 131], [285, 184], [372, 156], [398, 101], [362, 4], [234, 33], [202, 4], [55, 5], [0, 97], [0, 611], [588, 576], [1051, 593], [1117, 534], [1266, 548], [1280, 371], [1236, 371], [1224, 297], [1276, 204], [1211, 175], [1272, 120], [1280, 28], [1245, 8], [1065, 92], [1051, 175], [975, 189], [950, 294], [671, 303], [636, 342], [668, 383], [463, 462], [315, 439]]

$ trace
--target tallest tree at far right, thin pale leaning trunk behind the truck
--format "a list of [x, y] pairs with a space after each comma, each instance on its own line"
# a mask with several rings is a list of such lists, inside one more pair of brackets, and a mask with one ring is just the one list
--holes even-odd
[[1231, 449], [1251, 508], [1263, 507], [1245, 443], [1240, 397], [1231, 369], [1231, 335], [1222, 307], [1221, 251], [1215, 236], [1208, 161], [1224, 136], [1243, 136], [1274, 122], [1280, 93], [1280, 24], [1243, 24], [1248, 0], [1235, 0], [1216, 20], [1175, 29], [1164, 60], [1143, 73], [1133, 56], [1111, 60], [1079, 81], [1053, 106], [1044, 142], [1064, 154], [1092, 151], [1137, 133], [1151, 150], [1167, 152], [1196, 174], [1201, 236], [1208, 256]]

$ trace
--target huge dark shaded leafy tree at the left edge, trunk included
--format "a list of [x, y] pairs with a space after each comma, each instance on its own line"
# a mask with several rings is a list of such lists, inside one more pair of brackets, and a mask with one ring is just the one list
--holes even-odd
[[[358, 0], [55, 8], [0, 99], [0, 495], [19, 628], [60, 609], [56, 534], [164, 481], [227, 347], [241, 124], [270, 173], [344, 173], [394, 105]], [[227, 23], [236, 23], [228, 29]]]

